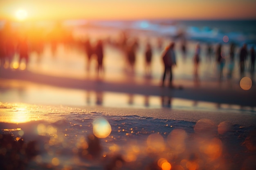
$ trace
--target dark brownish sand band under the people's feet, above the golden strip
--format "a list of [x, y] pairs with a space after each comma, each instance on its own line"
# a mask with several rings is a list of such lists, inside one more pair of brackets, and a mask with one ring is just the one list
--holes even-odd
[[104, 78], [70, 78], [55, 77], [33, 73], [31, 71], [20, 71], [11, 69], [1, 69], [1, 81], [4, 79], [17, 79], [21, 81], [34, 82], [37, 84], [45, 84], [61, 88], [79, 89], [96, 92], [117, 92], [127, 94], [139, 94], [149, 96], [169, 96], [182, 99], [190, 99], [194, 101], [214, 102], [216, 104], [234, 104], [239, 106], [256, 106], [256, 86], [252, 86], [245, 91], [240, 88], [239, 82], [230, 83], [201, 80], [195, 84], [193, 80], [176, 79], [174, 81], [175, 88], [160, 86], [151, 82], [151, 79], [140, 79], [139, 82], [133, 77], [127, 77], [125, 81], [118, 79], [108, 81]]

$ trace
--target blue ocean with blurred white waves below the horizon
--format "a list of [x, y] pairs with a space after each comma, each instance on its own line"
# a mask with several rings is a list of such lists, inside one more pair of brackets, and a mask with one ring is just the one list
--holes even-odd
[[[151, 34], [175, 37], [180, 32], [188, 40], [209, 43], [234, 42], [249, 47], [256, 44], [256, 20], [129, 20], [129, 21], [66, 21], [67, 25], [95, 25], [120, 30], [151, 31]], [[223, 42], [228, 36], [229, 41]]]

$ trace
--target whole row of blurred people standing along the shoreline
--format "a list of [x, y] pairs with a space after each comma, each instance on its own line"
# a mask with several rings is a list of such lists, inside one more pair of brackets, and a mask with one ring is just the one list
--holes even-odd
[[[106, 44], [121, 51], [125, 58], [126, 69], [129, 73], [135, 73], [135, 63], [137, 58], [137, 51], [141, 46], [144, 49], [144, 67], [145, 75], [152, 73], [152, 56], [153, 50], [159, 49], [163, 58], [164, 71], [162, 75], [162, 86], [164, 86], [164, 80], [166, 75], [169, 75], [169, 86], [172, 87], [172, 67], [176, 66], [175, 53], [179, 51], [182, 53], [182, 57], [185, 60], [188, 51], [194, 51], [194, 75], [195, 79], [198, 79], [200, 74], [199, 66], [202, 60], [207, 62], [215, 61], [218, 65], [219, 79], [223, 77], [223, 69], [228, 70], [228, 78], [233, 75], [234, 67], [236, 66], [235, 60], [239, 62], [240, 77], [245, 76], [245, 70], [249, 70], [250, 73], [254, 73], [255, 70], [255, 50], [254, 46], [250, 49], [247, 48], [247, 44], [240, 46], [231, 42], [229, 45], [229, 52], [223, 52], [222, 44], [207, 44], [207, 48], [203, 49], [206, 55], [202, 55], [201, 44], [197, 43], [195, 49], [188, 49], [186, 36], [179, 35], [175, 39], [169, 39], [167, 47], [163, 43], [163, 37], [159, 37], [157, 44], [150, 43], [150, 40], [146, 40], [143, 43], [134, 35], [130, 35], [128, 31], [121, 31], [118, 38], [98, 38], [97, 40], [90, 37], [90, 34], [86, 36], [75, 38], [72, 29], [63, 26], [61, 22], [56, 22], [50, 27], [40, 27], [36, 24], [30, 24], [29, 26], [19, 26], [16, 28], [10, 22], [5, 22], [4, 26], [0, 30], [0, 67], [4, 68], [18, 68], [21, 62], [25, 62], [25, 65], [29, 64], [29, 57], [31, 53], [38, 55], [38, 60], [42, 56], [45, 45], [51, 46], [52, 54], [56, 52], [59, 44], [64, 44], [67, 48], [75, 48], [82, 51], [86, 58], [85, 68], [90, 70], [92, 60], [97, 61], [97, 73], [103, 74], [104, 72], [104, 46]], [[177, 48], [176, 40], [179, 41], [180, 47]], [[227, 44], [227, 43], [225, 43]], [[214, 47], [213, 47], [214, 46]], [[239, 51], [236, 52], [236, 48]], [[171, 51], [170, 51], [171, 50]], [[237, 54], [236, 54], [237, 53]], [[224, 55], [225, 54], [225, 55]], [[18, 56], [18, 66], [11, 66], [14, 56]], [[167, 56], [167, 60], [164, 56]], [[238, 56], [236, 59], [235, 56]], [[183, 61], [184, 61], [183, 60]], [[246, 64], [248, 63], [249, 64]], [[178, 64], [177, 64], [178, 65]], [[249, 67], [249, 68], [248, 68]]]

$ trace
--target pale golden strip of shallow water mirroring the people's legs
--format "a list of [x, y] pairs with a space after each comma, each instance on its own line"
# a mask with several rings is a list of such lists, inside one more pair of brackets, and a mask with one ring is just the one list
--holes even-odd
[[[0, 99], [6, 102], [22, 102], [35, 104], [64, 104], [73, 106], [107, 106], [133, 108], [180, 108], [204, 110], [255, 110], [255, 107], [239, 106], [237, 104], [222, 104], [204, 102], [201, 100], [182, 99], [173, 95], [143, 95], [135, 93], [119, 93], [109, 91], [74, 90], [56, 88], [25, 81], [1, 81]], [[100, 87], [100, 86], [99, 86]], [[100, 89], [98, 87], [98, 89]], [[182, 91], [179, 90], [179, 93]], [[35, 96], [36, 94], [36, 96]], [[163, 91], [162, 91], [162, 94]], [[175, 94], [175, 93], [173, 93]], [[67, 97], [68, 96], [68, 97]], [[22, 115], [22, 114], [21, 114]], [[21, 119], [20, 119], [21, 120]]]

